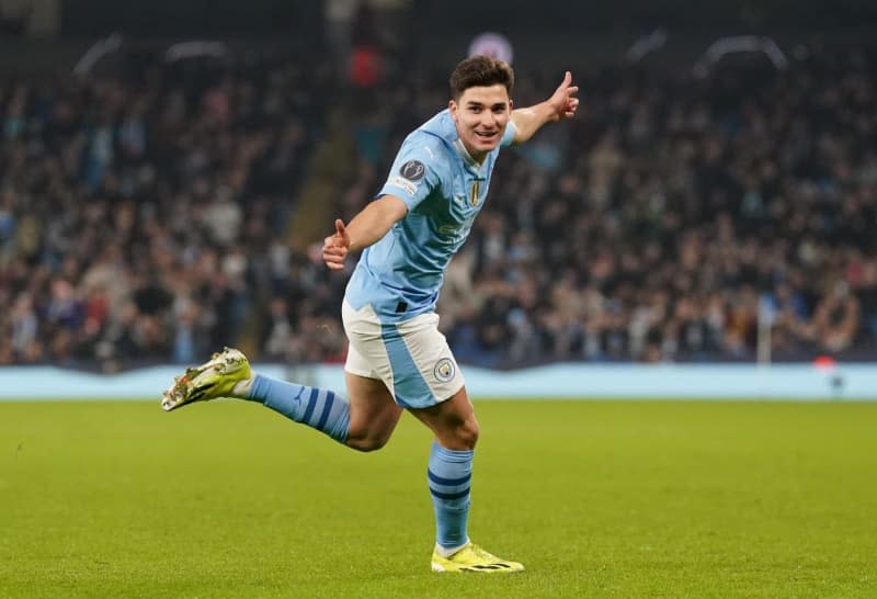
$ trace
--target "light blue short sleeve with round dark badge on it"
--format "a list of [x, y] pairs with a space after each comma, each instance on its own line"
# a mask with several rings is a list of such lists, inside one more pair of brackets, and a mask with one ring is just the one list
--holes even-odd
[[441, 185], [437, 172], [437, 149], [429, 142], [412, 136], [402, 144], [392, 162], [387, 182], [378, 195], [392, 194], [405, 202], [408, 210], [417, 207], [433, 190]]

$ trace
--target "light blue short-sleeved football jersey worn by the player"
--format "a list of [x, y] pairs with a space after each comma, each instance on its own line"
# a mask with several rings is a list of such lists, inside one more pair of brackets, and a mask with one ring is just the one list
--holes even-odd
[[445, 268], [485, 205], [500, 149], [513, 139], [509, 122], [499, 146], [479, 165], [447, 110], [406, 137], [376, 197], [399, 197], [408, 214], [360, 256], [346, 290], [354, 309], [371, 304], [381, 323], [391, 324], [435, 308]]

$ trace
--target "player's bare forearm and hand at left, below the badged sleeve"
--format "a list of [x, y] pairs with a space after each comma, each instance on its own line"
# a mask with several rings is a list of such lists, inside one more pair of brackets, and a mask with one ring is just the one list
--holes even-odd
[[408, 213], [408, 206], [395, 195], [383, 195], [365, 206], [345, 226], [335, 221], [335, 233], [323, 240], [322, 260], [332, 270], [344, 268], [348, 253], [363, 248], [387, 235], [390, 227]]

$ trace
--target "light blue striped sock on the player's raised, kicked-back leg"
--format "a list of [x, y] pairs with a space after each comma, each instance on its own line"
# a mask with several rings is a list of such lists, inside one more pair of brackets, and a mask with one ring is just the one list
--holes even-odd
[[350, 404], [334, 392], [255, 375], [247, 399], [344, 443], [350, 431]]

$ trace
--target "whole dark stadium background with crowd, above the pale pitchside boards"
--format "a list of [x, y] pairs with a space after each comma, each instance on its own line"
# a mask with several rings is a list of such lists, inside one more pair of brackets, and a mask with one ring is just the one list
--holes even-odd
[[[47, 27], [34, 20], [49, 4]], [[349, 18], [328, 19], [328, 4]], [[12, 223], [0, 363], [117, 371], [226, 343], [257, 360], [342, 360], [344, 278], [312, 244], [379, 187], [486, 31], [514, 46], [519, 105], [569, 68], [583, 109], [500, 163], [440, 306], [462, 361], [877, 355], [873, 2], [373, 4], [4, 3], [0, 114], [31, 121], [7, 123], [0, 149]], [[665, 41], [627, 58], [649, 35]], [[754, 52], [694, 74], [711, 42], [738, 35], [775, 41], [788, 68]], [[184, 42], [220, 52], [170, 59]], [[88, 64], [101, 43], [116, 49]], [[209, 124], [214, 101], [230, 113]], [[67, 121], [49, 131], [61, 104]], [[122, 155], [126, 115], [145, 132], [137, 156]], [[679, 124], [698, 116], [704, 131]], [[89, 162], [95, 139], [110, 167]], [[58, 160], [76, 163], [61, 173]], [[107, 252], [115, 279], [94, 272]]]

